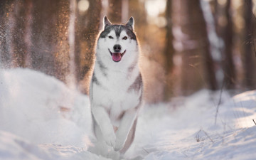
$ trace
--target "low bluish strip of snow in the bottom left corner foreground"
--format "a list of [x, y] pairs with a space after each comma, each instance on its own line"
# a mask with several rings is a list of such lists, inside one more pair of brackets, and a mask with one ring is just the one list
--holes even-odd
[[31, 144], [9, 132], [0, 131], [0, 159], [10, 160], [107, 160], [75, 146]]

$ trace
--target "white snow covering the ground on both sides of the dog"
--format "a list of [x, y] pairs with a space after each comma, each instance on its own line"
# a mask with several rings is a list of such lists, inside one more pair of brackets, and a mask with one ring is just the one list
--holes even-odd
[[[224, 91], [201, 90], [169, 104], [146, 105], [125, 156], [255, 159], [252, 119], [256, 91], [231, 98]], [[87, 151], [90, 125], [87, 96], [33, 70], [0, 70], [0, 159], [105, 159]]]

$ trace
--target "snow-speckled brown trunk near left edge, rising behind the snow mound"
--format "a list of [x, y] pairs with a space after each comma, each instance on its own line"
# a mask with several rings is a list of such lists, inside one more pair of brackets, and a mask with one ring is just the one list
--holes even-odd
[[30, 31], [32, 1], [14, 1], [11, 4], [8, 18], [9, 54], [11, 55], [11, 67], [25, 68], [28, 65], [30, 55]]

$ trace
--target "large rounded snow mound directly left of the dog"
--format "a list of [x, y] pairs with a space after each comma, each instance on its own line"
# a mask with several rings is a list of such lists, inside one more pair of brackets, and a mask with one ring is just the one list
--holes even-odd
[[28, 69], [0, 71], [0, 129], [34, 144], [86, 146], [90, 105], [63, 82]]

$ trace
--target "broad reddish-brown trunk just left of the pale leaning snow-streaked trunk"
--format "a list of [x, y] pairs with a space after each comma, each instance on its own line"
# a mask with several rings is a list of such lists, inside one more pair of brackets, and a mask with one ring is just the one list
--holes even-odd
[[186, 16], [181, 21], [181, 28], [183, 33], [188, 36], [183, 41], [181, 73], [183, 94], [189, 95], [205, 87], [204, 85], [215, 90], [217, 88], [215, 64], [210, 55], [206, 21], [203, 18], [200, 0], [186, 0], [183, 3]]

